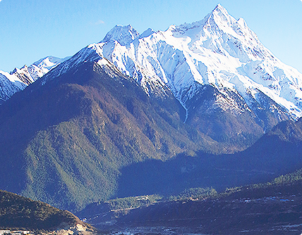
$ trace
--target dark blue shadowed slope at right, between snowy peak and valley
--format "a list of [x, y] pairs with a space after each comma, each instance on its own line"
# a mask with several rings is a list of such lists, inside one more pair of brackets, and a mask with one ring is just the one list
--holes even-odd
[[267, 182], [302, 167], [302, 120], [280, 122], [253, 146], [234, 154], [179, 154], [162, 162], [147, 160], [121, 169], [117, 196], [168, 196], [194, 187], [221, 191]]

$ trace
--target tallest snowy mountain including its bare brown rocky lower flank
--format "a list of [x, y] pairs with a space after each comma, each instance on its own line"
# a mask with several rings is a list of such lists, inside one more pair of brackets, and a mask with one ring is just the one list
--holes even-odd
[[114, 63], [149, 96], [169, 88], [186, 110], [185, 122], [216, 141], [236, 142], [236, 150], [238, 141], [250, 145], [277, 122], [301, 117], [302, 75], [221, 5], [164, 32], [117, 25], [73, 63], [96, 58]]

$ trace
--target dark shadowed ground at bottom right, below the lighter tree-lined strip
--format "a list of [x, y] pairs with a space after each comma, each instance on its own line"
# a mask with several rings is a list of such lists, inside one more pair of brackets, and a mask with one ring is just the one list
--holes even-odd
[[[302, 234], [301, 195], [170, 202], [134, 209], [109, 234]], [[162, 205], [160, 205], [162, 204]], [[190, 215], [190, 216], [189, 216]]]

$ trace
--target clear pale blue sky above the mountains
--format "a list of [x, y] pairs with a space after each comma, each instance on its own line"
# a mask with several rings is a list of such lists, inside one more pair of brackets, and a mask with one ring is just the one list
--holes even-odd
[[202, 20], [218, 3], [244, 18], [277, 58], [302, 72], [301, 0], [0, 0], [0, 70], [45, 56], [72, 56], [118, 24], [142, 33]]

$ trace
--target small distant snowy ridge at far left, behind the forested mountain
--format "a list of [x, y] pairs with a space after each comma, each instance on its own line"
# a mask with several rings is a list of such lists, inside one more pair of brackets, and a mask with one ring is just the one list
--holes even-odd
[[0, 103], [7, 101], [17, 91], [25, 89], [29, 84], [35, 82], [44, 74], [55, 68], [59, 63], [66, 61], [66, 58], [56, 58], [47, 56], [45, 58], [32, 63], [32, 65], [24, 65], [22, 68], [15, 68], [11, 72], [0, 70]]

